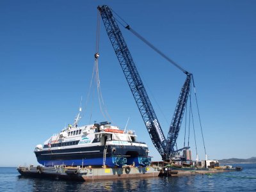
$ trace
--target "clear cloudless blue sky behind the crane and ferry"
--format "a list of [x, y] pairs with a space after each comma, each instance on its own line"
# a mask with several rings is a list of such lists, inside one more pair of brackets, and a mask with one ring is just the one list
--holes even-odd
[[[36, 164], [35, 145], [74, 121], [92, 76], [99, 4], [111, 6], [194, 74], [210, 159], [256, 156], [256, 1], [1, 1], [0, 166]], [[167, 134], [186, 76], [129, 31], [122, 33]], [[111, 119], [124, 128], [130, 117], [128, 128], [148, 144], [153, 160], [160, 160], [102, 22], [99, 52]], [[81, 125], [89, 123], [91, 103], [86, 108], [83, 102]], [[92, 119], [104, 120], [97, 104]], [[178, 143], [183, 137], [184, 129]], [[195, 142], [190, 143], [195, 157]]]

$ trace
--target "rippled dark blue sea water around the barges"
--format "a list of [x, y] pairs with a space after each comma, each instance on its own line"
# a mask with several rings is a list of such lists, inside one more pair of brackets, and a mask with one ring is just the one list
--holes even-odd
[[241, 172], [76, 182], [20, 176], [16, 168], [0, 168], [0, 191], [256, 191], [256, 164]]

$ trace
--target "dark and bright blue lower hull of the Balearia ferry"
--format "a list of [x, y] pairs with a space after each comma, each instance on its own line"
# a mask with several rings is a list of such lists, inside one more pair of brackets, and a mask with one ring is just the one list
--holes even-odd
[[[105, 145], [35, 151], [38, 163], [44, 166], [64, 164], [66, 166], [102, 166]], [[115, 167], [124, 164], [146, 166], [141, 161], [147, 156], [147, 147], [109, 145], [106, 150], [106, 166]], [[122, 159], [123, 158], [123, 159]]]

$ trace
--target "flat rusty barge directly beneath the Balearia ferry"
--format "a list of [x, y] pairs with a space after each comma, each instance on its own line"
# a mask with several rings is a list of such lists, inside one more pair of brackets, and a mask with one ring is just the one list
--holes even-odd
[[156, 166], [124, 166], [122, 168], [19, 166], [17, 170], [20, 175], [26, 177], [81, 181], [157, 177], [160, 172]]

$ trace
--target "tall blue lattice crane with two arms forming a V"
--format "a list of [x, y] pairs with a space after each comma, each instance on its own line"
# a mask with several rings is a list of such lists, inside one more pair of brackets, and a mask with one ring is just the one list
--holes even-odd
[[[116, 57], [118, 58], [120, 66], [122, 67], [124, 76], [129, 84], [134, 100], [136, 101], [140, 114], [143, 118], [143, 122], [147, 127], [147, 131], [150, 135], [152, 143], [157, 148], [163, 161], [170, 161], [172, 154], [177, 152], [177, 150], [174, 150], [174, 147], [179, 135], [184, 109], [186, 108], [188, 101], [189, 92], [191, 89], [191, 79], [193, 78], [193, 75], [186, 70], [183, 70], [176, 63], [173, 63], [173, 65], [177, 65], [176, 67], [180, 68], [184, 74], [186, 74], [186, 81], [182, 86], [168, 132], [168, 137], [166, 139], [163, 134], [163, 130], [161, 129], [161, 125], [157, 120], [156, 113], [152, 107], [143, 82], [141, 81], [140, 74], [138, 74], [136, 65], [132, 60], [131, 53], [127, 47], [127, 44], [125, 43], [116, 19], [113, 16], [111, 8], [109, 8], [107, 5], [102, 5], [98, 6], [98, 10], [103, 20], [106, 32], [109, 36], [109, 40], [115, 51]], [[130, 26], [126, 26], [125, 28], [132, 30]]]

